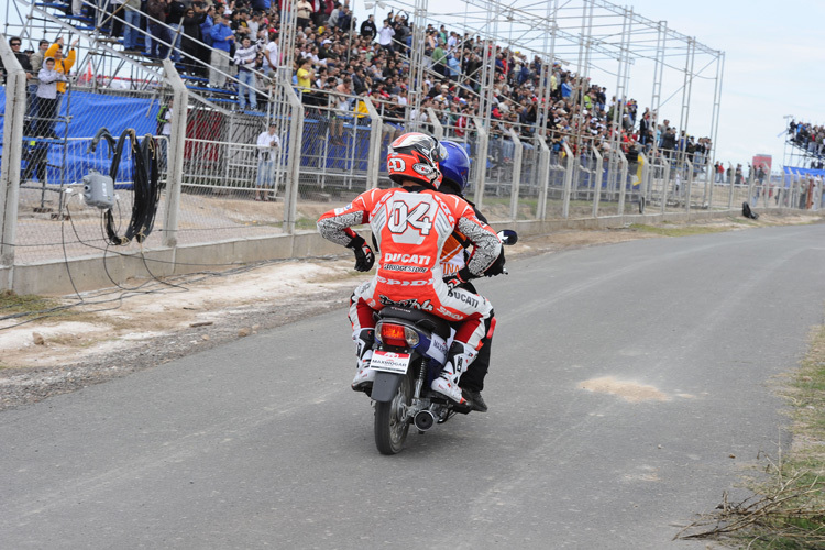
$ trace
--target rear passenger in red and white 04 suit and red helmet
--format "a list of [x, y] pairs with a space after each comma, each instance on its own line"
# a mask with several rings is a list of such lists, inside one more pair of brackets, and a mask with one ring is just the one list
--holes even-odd
[[[400, 187], [367, 190], [318, 220], [318, 231], [324, 239], [354, 251], [358, 271], [370, 271], [375, 255], [364, 239], [350, 229], [352, 226], [369, 222], [382, 250], [377, 273], [359, 286], [351, 299], [350, 321], [359, 359], [353, 389], [365, 391], [375, 380], [375, 371], [370, 369], [375, 337], [373, 312], [385, 306], [404, 305], [461, 321], [443, 370], [431, 388], [466, 404], [459, 377], [495, 324], [490, 301], [458, 285], [481, 276], [498, 257], [502, 243], [464, 199], [437, 191], [441, 183], [438, 164], [444, 157], [444, 148], [433, 138], [418, 132], [404, 134], [392, 143], [387, 154], [389, 178]], [[444, 280], [441, 250], [457, 229], [472, 241], [474, 250], [466, 265]]]

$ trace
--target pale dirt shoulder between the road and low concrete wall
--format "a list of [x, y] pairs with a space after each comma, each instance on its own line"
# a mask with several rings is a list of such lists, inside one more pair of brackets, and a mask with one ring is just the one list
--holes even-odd
[[[691, 224], [562, 231], [521, 239], [508, 258], [617, 242], [823, 221], [812, 215], [763, 215]], [[72, 306], [38, 319], [9, 318], [0, 297], [0, 410], [155, 367], [175, 359], [340, 309], [363, 274], [349, 254], [264, 263], [222, 273], [130, 282], [54, 300]], [[3, 301], [6, 300], [6, 301]], [[36, 314], [37, 309], [32, 310]], [[54, 315], [57, 314], [57, 315]]]

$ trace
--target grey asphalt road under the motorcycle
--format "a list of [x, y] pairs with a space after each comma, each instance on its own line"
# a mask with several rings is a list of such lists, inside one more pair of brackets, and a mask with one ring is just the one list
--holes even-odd
[[344, 311], [7, 410], [0, 547], [704, 548], [671, 539], [789, 444], [773, 380], [823, 322], [824, 241], [778, 227], [510, 262], [479, 284], [490, 413], [392, 458], [349, 389]]

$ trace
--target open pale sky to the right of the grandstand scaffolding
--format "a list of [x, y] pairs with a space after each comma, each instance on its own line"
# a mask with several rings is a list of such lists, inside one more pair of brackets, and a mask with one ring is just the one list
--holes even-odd
[[777, 135], [785, 128], [784, 116], [825, 123], [825, 48], [818, 43], [825, 1], [631, 0], [628, 6], [725, 52], [717, 158], [745, 164], [767, 153], [777, 169], [783, 162], [783, 139]]

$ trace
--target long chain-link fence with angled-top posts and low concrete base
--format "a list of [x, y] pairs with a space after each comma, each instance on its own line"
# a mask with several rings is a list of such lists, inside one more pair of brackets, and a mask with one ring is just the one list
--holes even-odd
[[[186, 87], [166, 62], [164, 84], [175, 95], [173, 119], [180, 118], [168, 122], [179, 131], [158, 124], [168, 95], [72, 87], [59, 114], [62, 136], [35, 136], [32, 144], [22, 140], [28, 107], [24, 90], [18, 89], [23, 84], [19, 65], [4, 46], [0, 44], [0, 53], [9, 78], [0, 89], [6, 101], [0, 243], [6, 266], [311, 230], [318, 215], [333, 205], [375, 185], [391, 185], [386, 150], [409, 129], [387, 103], [352, 97], [352, 103], [341, 108], [340, 101], [321, 96], [323, 101], [308, 103], [305, 98], [301, 105], [290, 86], [272, 92], [268, 118], [216, 109], [187, 99]], [[176, 108], [182, 105], [186, 108]], [[276, 123], [280, 147], [262, 158], [257, 138], [267, 120]], [[429, 111], [424, 122], [468, 150], [472, 165], [465, 195], [492, 221], [726, 211], [738, 210], [744, 201], [757, 209], [822, 206], [823, 183], [801, 175], [762, 182], [734, 178], [729, 184], [716, 180], [706, 158], [628, 155], [596, 140], [576, 145], [569, 134], [541, 138], [518, 123], [485, 130], [479, 119], [446, 111]], [[103, 125], [116, 135], [125, 128], [134, 128], [139, 136], [154, 135], [162, 152], [166, 188], [155, 231], [140, 245], [112, 248], [100, 230], [101, 212], [85, 206], [77, 193], [64, 193], [77, 190], [91, 169], [108, 173], [108, 148], [89, 146], [92, 130]], [[24, 152], [41, 145], [46, 151], [44, 177], [19, 182], [36, 164], [36, 155]], [[131, 158], [127, 150], [116, 176], [112, 213], [120, 223], [129, 219], [134, 202]]]

